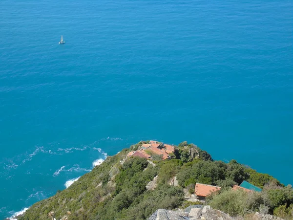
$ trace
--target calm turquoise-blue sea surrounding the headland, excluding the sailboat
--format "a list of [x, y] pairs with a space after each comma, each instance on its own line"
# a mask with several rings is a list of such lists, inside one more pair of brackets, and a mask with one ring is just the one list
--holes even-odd
[[0, 219], [146, 139], [293, 183], [292, 33], [291, 0], [1, 0]]

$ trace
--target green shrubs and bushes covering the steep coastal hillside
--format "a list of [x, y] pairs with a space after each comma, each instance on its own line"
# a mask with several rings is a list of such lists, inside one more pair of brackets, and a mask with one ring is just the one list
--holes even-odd
[[[176, 158], [162, 161], [161, 157], [155, 157], [155, 166], [145, 158], [126, 158], [130, 150], [137, 150], [143, 143], [147, 142], [139, 142], [107, 157], [68, 189], [35, 203], [20, 219], [47, 220], [54, 212], [56, 219], [67, 216], [68, 220], [144, 220], [158, 208], [175, 209], [186, 205], [184, 190], [194, 192], [196, 183], [221, 186], [221, 191], [210, 195], [207, 203], [232, 216], [259, 211], [293, 219], [290, 185], [284, 187], [272, 176], [257, 173], [235, 160], [213, 161], [207, 152], [187, 142], [175, 148]], [[155, 176], [158, 177], [154, 190], [146, 190]], [[170, 185], [175, 176], [179, 186]], [[231, 190], [243, 180], [263, 191]]]

